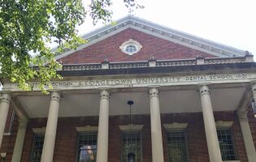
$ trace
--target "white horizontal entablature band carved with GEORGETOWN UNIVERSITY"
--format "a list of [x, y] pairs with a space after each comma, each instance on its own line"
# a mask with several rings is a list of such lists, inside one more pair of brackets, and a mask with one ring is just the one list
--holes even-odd
[[[198, 84], [222, 84], [222, 83], [249, 83], [251, 80], [256, 79], [256, 73], [246, 71], [220, 71], [216, 74], [206, 72], [196, 72], [195, 74], [186, 73], [171, 73], [164, 75], [145, 75], [139, 76], [140, 79], [147, 79], [148, 82], [142, 83], [137, 79], [139, 75], [128, 75], [128, 76], [95, 76], [91, 77], [78, 77], [78, 78], [67, 78], [61, 81], [53, 81], [52, 85], [54, 89], [61, 90], [72, 90], [72, 89], [100, 89], [100, 88], [126, 88], [132, 84], [132, 87], [152, 87], [152, 86], [182, 86], [182, 85], [198, 85]], [[150, 77], [152, 76], [152, 77]], [[219, 77], [219, 78], [218, 78]], [[167, 79], [167, 81], [164, 81]], [[162, 81], [163, 82], [162, 82]], [[99, 81], [99, 83], [98, 83]], [[34, 92], [41, 92], [37, 86], [37, 82], [33, 88]], [[61, 83], [61, 84], [59, 84]], [[23, 92], [15, 83], [5, 83], [4, 90], [11, 92]]]

